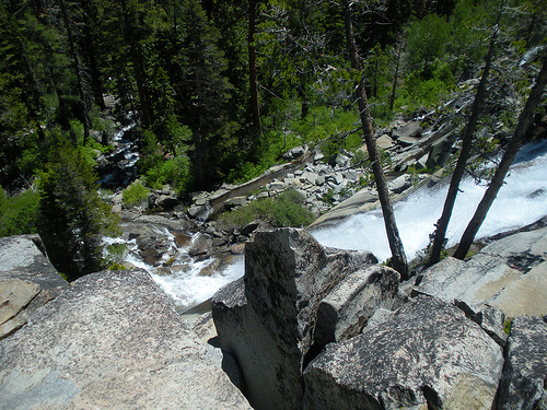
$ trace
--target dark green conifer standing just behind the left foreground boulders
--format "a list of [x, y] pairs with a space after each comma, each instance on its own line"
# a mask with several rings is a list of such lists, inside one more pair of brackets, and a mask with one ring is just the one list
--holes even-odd
[[51, 263], [69, 280], [104, 268], [102, 236], [119, 229], [110, 207], [98, 197], [96, 176], [78, 150], [59, 139], [39, 188], [38, 233]]

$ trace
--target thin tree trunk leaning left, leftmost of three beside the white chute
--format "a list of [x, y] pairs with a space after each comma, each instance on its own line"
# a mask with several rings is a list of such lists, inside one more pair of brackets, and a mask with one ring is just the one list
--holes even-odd
[[[351, 21], [351, 10], [349, 8], [348, 0], [342, 0], [341, 4], [344, 11], [344, 20], [346, 23], [346, 39], [348, 43], [351, 68], [358, 75], [360, 75], [361, 63], [359, 61], [359, 54], [356, 46], [353, 23]], [[384, 223], [387, 233], [387, 239], [389, 242], [389, 249], [392, 250], [392, 265], [394, 269], [400, 273], [401, 278], [406, 279], [408, 276], [407, 259], [405, 256], [405, 250], [403, 249], [403, 242], [399, 237], [397, 224], [395, 223], [395, 215], [393, 212], [392, 203], [389, 201], [387, 184], [385, 181], [384, 171], [382, 169], [382, 162], [380, 160], [376, 141], [374, 140], [372, 118], [370, 115], [369, 103], [365, 93], [365, 83], [362, 77], [360, 78], [359, 84], [356, 89], [356, 96], [359, 103], [359, 113], [361, 116], [361, 127], [363, 130], [364, 142], [366, 144], [366, 149], [369, 150], [369, 156], [372, 163], [372, 172], [376, 181], [379, 199], [382, 206], [382, 213], [384, 215]]]

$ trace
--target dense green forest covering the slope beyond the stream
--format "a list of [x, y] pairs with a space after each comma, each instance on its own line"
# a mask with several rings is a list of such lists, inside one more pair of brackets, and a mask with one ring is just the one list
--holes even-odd
[[[69, 165], [85, 184], [66, 189], [96, 190], [96, 159], [113, 150], [114, 129], [128, 118], [140, 176], [183, 195], [249, 179], [303, 143], [327, 156], [356, 150], [356, 79], [366, 80], [376, 126], [395, 113], [442, 107], [458, 84], [480, 75], [500, 7], [491, 104], [523, 96], [529, 81], [511, 69], [546, 47], [543, 0], [352, 1], [357, 71], [340, 4], [1, 0], [0, 210], [10, 212], [0, 218], [36, 230], [28, 209], [51, 214], [47, 203], [67, 194], [54, 186], [55, 173]], [[501, 120], [514, 126], [517, 110], [505, 112]], [[21, 203], [30, 206], [18, 213], [25, 190]], [[91, 203], [85, 197], [67, 212]]]

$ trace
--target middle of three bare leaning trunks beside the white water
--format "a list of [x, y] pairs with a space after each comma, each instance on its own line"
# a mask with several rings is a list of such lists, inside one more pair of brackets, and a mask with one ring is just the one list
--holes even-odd
[[482, 71], [482, 77], [480, 78], [479, 85], [477, 87], [477, 94], [475, 95], [475, 99], [473, 102], [472, 115], [467, 122], [467, 127], [465, 129], [465, 133], [462, 138], [462, 151], [459, 152], [459, 156], [457, 159], [457, 164], [452, 174], [452, 179], [449, 187], [449, 192], [446, 194], [446, 199], [444, 201], [443, 212], [441, 218], [437, 222], [435, 235], [433, 238], [433, 245], [431, 248], [431, 255], [429, 257], [428, 265], [434, 265], [441, 259], [441, 250], [445, 244], [445, 235], [446, 229], [449, 226], [450, 219], [452, 216], [452, 211], [454, 209], [454, 203], [456, 201], [457, 191], [459, 188], [459, 183], [464, 177], [465, 167], [467, 165], [467, 160], [469, 159], [472, 149], [473, 149], [473, 136], [475, 133], [475, 127], [478, 121], [479, 114], [482, 109], [482, 103], [485, 98], [485, 89], [488, 80], [488, 74], [490, 72], [491, 60], [493, 56], [493, 51], [496, 48], [496, 38], [498, 36], [498, 24], [500, 22], [501, 10], [503, 7], [503, 1], [500, 4], [500, 11], [498, 13], [498, 20], [493, 27], [492, 36], [490, 38], [490, 46], [488, 48], [488, 52], [485, 58], [485, 69]]

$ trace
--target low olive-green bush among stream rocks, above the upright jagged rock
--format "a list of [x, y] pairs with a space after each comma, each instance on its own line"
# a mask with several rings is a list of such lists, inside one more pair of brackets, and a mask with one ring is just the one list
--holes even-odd
[[305, 208], [302, 194], [288, 189], [277, 198], [263, 198], [246, 207], [226, 212], [219, 222], [229, 226], [245, 226], [253, 221], [265, 221], [274, 226], [306, 226], [314, 221]]

